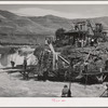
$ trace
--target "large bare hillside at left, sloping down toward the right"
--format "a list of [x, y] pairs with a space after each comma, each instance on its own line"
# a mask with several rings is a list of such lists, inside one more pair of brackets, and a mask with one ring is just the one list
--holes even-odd
[[31, 19], [15, 15], [8, 11], [0, 11], [0, 30], [2, 32], [18, 32], [18, 33], [50, 33], [50, 29], [41, 26]]

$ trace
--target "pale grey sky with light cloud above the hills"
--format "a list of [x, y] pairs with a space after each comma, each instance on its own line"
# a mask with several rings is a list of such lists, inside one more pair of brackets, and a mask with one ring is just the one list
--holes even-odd
[[108, 16], [108, 4], [0, 4], [0, 10], [23, 16], [56, 15], [66, 18]]

